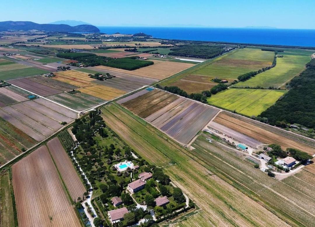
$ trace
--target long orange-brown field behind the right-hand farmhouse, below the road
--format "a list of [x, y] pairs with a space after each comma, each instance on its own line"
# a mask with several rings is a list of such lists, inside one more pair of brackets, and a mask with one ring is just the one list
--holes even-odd
[[287, 149], [289, 147], [303, 150], [308, 154], [314, 154], [314, 148], [306, 146], [298, 141], [288, 139], [280, 134], [273, 132], [273, 128], [270, 127], [269, 130], [260, 128], [252, 123], [252, 120], [248, 118], [243, 118], [242, 120], [225, 114], [226, 112], [221, 112], [214, 121], [231, 128], [234, 131], [247, 135], [264, 144], [279, 144], [282, 149]]

